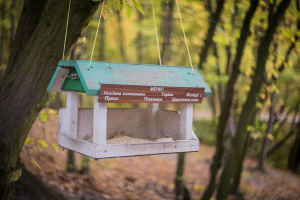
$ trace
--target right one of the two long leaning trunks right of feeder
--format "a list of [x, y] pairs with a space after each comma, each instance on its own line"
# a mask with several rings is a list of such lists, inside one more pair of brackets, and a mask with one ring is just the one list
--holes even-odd
[[261, 39], [261, 42], [259, 44], [257, 51], [255, 74], [253, 75], [252, 85], [247, 100], [242, 107], [240, 118], [237, 124], [236, 134], [233, 139], [233, 149], [225, 161], [224, 168], [220, 177], [218, 192], [216, 196], [217, 199], [226, 199], [227, 194], [229, 192], [230, 179], [232, 178], [236, 170], [237, 160], [239, 160], [242, 156], [243, 145], [241, 144], [244, 144], [244, 141], [247, 138], [247, 126], [250, 123], [256, 101], [258, 100], [258, 94], [260, 91], [261, 84], [265, 81], [264, 72], [265, 63], [269, 54], [268, 49], [272, 41], [273, 35], [275, 33], [275, 30], [279, 22], [283, 18], [284, 12], [289, 2], [290, 0], [284, 0], [280, 2], [272, 20], [269, 21], [268, 28], [265, 32], [265, 36]]

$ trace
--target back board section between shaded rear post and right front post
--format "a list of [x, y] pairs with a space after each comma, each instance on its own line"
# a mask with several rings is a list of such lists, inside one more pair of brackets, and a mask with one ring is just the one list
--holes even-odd
[[172, 137], [179, 140], [179, 113], [172, 110], [158, 110], [158, 128], [156, 139]]

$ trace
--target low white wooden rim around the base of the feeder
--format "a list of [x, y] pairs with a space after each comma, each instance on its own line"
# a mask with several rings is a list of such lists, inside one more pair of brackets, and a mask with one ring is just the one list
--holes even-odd
[[59, 143], [64, 148], [93, 158], [192, 152], [199, 149], [198, 139], [129, 144], [93, 144], [63, 134], [60, 136]]

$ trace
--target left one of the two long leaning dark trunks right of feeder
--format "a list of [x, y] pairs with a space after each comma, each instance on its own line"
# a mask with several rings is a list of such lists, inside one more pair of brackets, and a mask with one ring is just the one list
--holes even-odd
[[251, 5], [246, 13], [243, 26], [240, 31], [240, 37], [237, 42], [236, 55], [232, 64], [232, 73], [226, 84], [225, 97], [223, 101], [223, 109], [221, 110], [221, 114], [219, 116], [219, 123], [217, 125], [216, 151], [213, 156], [212, 164], [210, 166], [210, 180], [202, 196], [202, 199], [210, 199], [215, 188], [215, 179], [219, 167], [221, 166], [221, 158], [224, 152], [223, 136], [224, 136], [227, 119], [229, 117], [230, 107], [232, 104], [234, 85], [239, 74], [239, 64], [246, 44], [246, 39], [249, 35], [250, 21], [256, 10], [257, 5], [258, 5], [258, 0], [251, 1]]

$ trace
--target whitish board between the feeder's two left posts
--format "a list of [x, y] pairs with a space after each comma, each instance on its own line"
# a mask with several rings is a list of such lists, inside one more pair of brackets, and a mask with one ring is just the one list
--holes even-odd
[[77, 138], [82, 139], [84, 141], [92, 142], [92, 129], [93, 129], [93, 109], [79, 108]]

